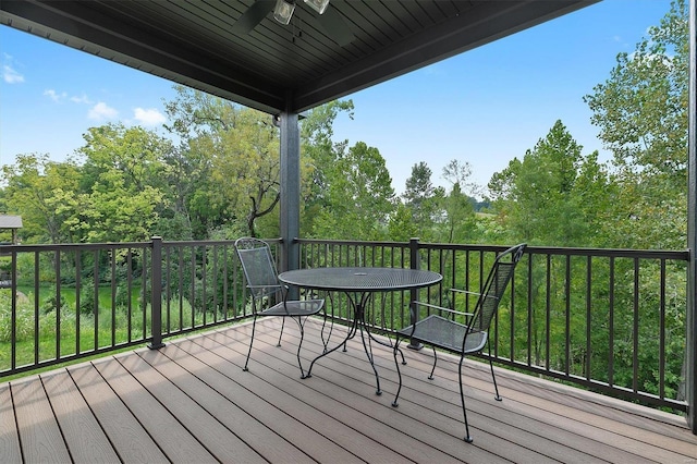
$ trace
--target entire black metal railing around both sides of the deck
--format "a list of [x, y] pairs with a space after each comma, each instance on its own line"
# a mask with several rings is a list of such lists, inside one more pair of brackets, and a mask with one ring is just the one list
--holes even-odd
[[[269, 243], [278, 256], [280, 242]], [[441, 273], [438, 285], [371, 301], [368, 322], [387, 334], [411, 322], [414, 300], [451, 306], [450, 288], [477, 290], [505, 248], [417, 240], [296, 245], [301, 267]], [[493, 361], [686, 411], [687, 259], [687, 252], [528, 247], [494, 321]], [[0, 289], [0, 377], [136, 344], [157, 347], [250, 314], [230, 241], [7, 245], [0, 271], [8, 277]], [[350, 320], [345, 295], [329, 296], [334, 318]]]

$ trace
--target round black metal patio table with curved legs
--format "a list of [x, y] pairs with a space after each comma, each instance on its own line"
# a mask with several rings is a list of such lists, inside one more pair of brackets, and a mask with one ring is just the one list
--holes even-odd
[[[346, 333], [346, 338], [333, 349], [320, 354], [309, 365], [309, 369], [304, 378], [311, 376], [315, 363], [337, 351], [340, 346], [346, 346], [346, 342], [360, 331], [363, 347], [366, 352], [372, 371], [375, 373], [377, 383], [377, 394], [381, 394], [380, 377], [372, 361], [372, 345], [370, 340], [390, 346], [372, 337], [369, 326], [365, 320], [365, 308], [370, 297], [378, 292], [394, 292], [401, 290], [414, 290], [433, 285], [443, 279], [441, 274], [428, 270], [402, 269], [402, 268], [369, 268], [369, 267], [330, 267], [330, 268], [310, 268], [297, 269], [279, 274], [279, 280], [285, 284], [304, 289], [323, 290], [344, 292], [348, 297], [348, 302], [353, 309], [353, 321]], [[366, 343], [366, 337], [368, 340]]]

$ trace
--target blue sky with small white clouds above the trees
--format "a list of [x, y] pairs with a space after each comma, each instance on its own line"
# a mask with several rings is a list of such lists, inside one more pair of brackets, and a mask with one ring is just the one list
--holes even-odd
[[[670, 0], [606, 0], [347, 96], [355, 118], [341, 117], [334, 138], [377, 147], [398, 192], [420, 161], [435, 184], [457, 159], [486, 185], [559, 119], [584, 154], [607, 159], [583, 96], [669, 9]], [[25, 152], [64, 160], [88, 127], [108, 122], [164, 134], [163, 100], [174, 97], [166, 80], [7, 26], [0, 66], [0, 164]]]

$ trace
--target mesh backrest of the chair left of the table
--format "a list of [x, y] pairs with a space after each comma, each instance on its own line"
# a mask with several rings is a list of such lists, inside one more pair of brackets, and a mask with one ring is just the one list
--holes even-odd
[[247, 288], [255, 300], [272, 295], [281, 290], [271, 247], [262, 240], [242, 237], [235, 241], [235, 249], [242, 262]]

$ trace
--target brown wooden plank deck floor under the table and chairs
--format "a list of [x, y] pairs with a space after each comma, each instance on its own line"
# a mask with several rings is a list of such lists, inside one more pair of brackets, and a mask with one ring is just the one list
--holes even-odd
[[[296, 331], [243, 325], [0, 383], [0, 462], [696, 463], [684, 419], [528, 376], [468, 367], [465, 443], [456, 364], [407, 351], [400, 406], [391, 351], [376, 349], [382, 395], [359, 339], [302, 380]], [[308, 322], [303, 354], [321, 350]], [[335, 335], [335, 333], [334, 333]], [[307, 363], [307, 365], [309, 362]]]

